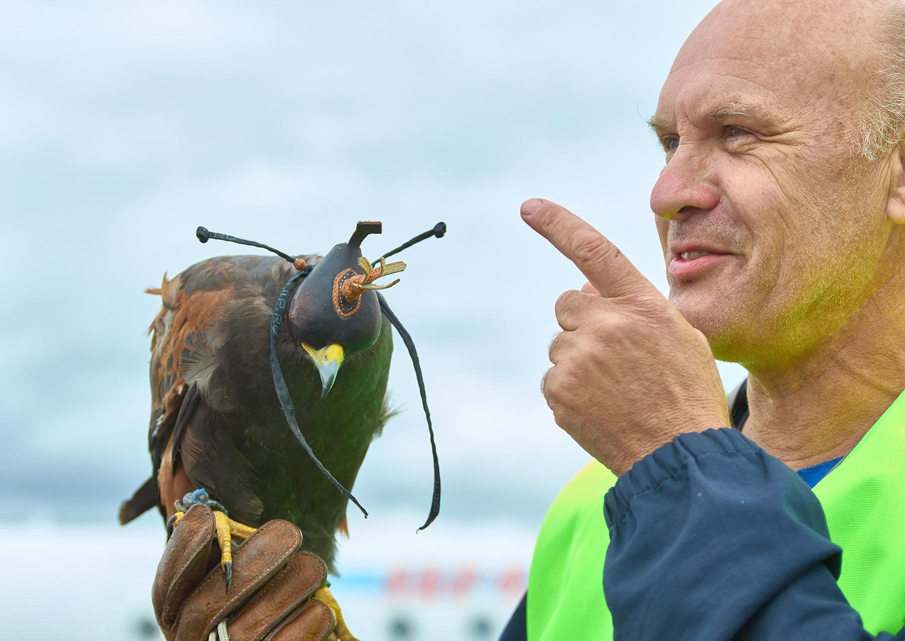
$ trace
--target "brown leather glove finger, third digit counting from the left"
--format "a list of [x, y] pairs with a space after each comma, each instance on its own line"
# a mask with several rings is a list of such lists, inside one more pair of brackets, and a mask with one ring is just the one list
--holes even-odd
[[230, 620], [230, 638], [259, 641], [326, 581], [326, 563], [317, 554], [300, 551]]

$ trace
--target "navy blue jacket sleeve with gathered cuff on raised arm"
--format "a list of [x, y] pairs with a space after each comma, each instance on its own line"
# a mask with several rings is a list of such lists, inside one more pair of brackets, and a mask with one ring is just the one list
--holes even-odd
[[735, 429], [682, 434], [607, 492], [615, 639], [872, 636], [836, 585], [842, 551], [805, 482]]

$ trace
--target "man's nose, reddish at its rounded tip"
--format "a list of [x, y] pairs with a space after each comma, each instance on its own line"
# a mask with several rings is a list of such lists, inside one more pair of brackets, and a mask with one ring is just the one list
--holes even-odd
[[706, 173], [704, 158], [678, 149], [653, 185], [653, 212], [667, 221], [681, 221], [693, 212], [714, 209], [719, 193], [707, 184]]

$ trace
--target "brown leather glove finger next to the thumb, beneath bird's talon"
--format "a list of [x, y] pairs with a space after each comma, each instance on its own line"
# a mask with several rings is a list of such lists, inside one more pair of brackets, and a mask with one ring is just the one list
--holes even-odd
[[206, 641], [224, 617], [239, 608], [270, 580], [301, 546], [301, 532], [280, 519], [264, 523], [233, 553], [233, 581], [219, 567], [186, 598], [179, 612], [176, 641]]

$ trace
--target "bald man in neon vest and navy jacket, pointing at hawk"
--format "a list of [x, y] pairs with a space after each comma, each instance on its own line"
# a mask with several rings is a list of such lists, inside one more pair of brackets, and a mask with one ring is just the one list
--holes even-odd
[[[589, 281], [557, 301], [545, 395], [596, 460], [551, 506], [503, 638], [861, 639], [905, 625], [903, 11], [727, 0], [691, 34], [652, 118], [669, 300], [576, 216], [522, 205]], [[749, 372], [731, 416], [714, 357]], [[209, 546], [197, 532], [193, 550]], [[294, 552], [288, 533], [268, 536], [246, 555], [269, 554], [254, 589]], [[284, 570], [281, 585], [301, 573]], [[244, 598], [179, 614], [197, 594], [179, 577], [156, 589], [195, 630]], [[295, 608], [320, 580], [270, 593]], [[264, 636], [283, 609], [258, 594]], [[318, 609], [292, 634], [326, 629]]]

